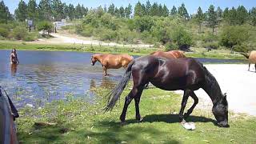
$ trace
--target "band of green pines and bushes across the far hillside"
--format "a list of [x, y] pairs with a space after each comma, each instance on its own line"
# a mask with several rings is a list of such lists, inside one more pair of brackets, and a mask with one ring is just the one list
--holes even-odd
[[[256, 7], [210, 5], [204, 12], [188, 14], [185, 4], [168, 8], [161, 3], [137, 2], [135, 6], [89, 8], [60, 0], [20, 1], [14, 14], [0, 2], [0, 39], [34, 41], [38, 31], [53, 29], [52, 22], [66, 19], [70, 33], [122, 44], [147, 43], [166, 50], [189, 50], [190, 46], [246, 52], [256, 46]], [[30, 32], [26, 24], [33, 20]]]

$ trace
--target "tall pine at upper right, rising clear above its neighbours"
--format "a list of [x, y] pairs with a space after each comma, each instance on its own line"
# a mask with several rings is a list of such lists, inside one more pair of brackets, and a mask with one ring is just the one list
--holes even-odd
[[218, 25], [218, 18], [217, 18], [216, 11], [214, 11], [213, 5], [210, 5], [207, 11], [207, 22], [208, 22], [208, 26], [212, 28], [213, 34], [214, 34], [214, 29]]

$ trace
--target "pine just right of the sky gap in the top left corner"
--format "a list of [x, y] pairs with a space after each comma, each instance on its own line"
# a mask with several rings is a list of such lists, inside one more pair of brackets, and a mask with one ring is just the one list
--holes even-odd
[[18, 8], [14, 11], [15, 14], [15, 18], [20, 21], [20, 22], [24, 22], [27, 18], [27, 6], [26, 6], [26, 2], [24, 1], [20, 1], [18, 3]]

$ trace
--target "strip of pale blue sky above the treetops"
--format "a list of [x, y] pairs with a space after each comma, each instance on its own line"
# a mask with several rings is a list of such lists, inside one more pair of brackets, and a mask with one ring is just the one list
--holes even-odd
[[[0, 0], [1, 1], [1, 0]], [[14, 10], [18, 6], [18, 2], [20, 0], [3, 0], [5, 2], [6, 6], [8, 6], [10, 13], [14, 14]], [[24, 0], [26, 3], [29, 0]], [[146, 3], [147, 0], [140, 0], [141, 3]], [[111, 3], [114, 3], [114, 6], [128, 6], [130, 3], [133, 8], [135, 4], [138, 2], [138, 0], [62, 0], [62, 2], [66, 2], [66, 4], [72, 3], [74, 6], [77, 6], [78, 3], [83, 4], [84, 6], [90, 8], [90, 7], [98, 7], [98, 6], [110, 6]], [[212, 4], [217, 9], [218, 6], [224, 10], [226, 7], [231, 8], [234, 6], [235, 8], [242, 5], [245, 6], [247, 10], [250, 10], [253, 6], [256, 7], [256, 0], [151, 0], [151, 5], [154, 2], [158, 2], [163, 4], [166, 4], [168, 9], [171, 9], [173, 6], [178, 8], [178, 6], [182, 5], [182, 2], [186, 6], [186, 10], [189, 14], [194, 14], [198, 10], [198, 7], [201, 6], [203, 11], [206, 11], [209, 6]], [[39, 3], [39, 0], [37, 0], [37, 3]]]

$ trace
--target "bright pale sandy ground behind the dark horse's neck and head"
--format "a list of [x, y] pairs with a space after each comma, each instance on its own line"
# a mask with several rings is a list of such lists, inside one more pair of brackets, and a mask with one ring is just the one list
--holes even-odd
[[[217, 79], [222, 93], [227, 94], [229, 110], [236, 113], [246, 113], [256, 115], [256, 73], [254, 65], [244, 64], [221, 64], [206, 65], [206, 68]], [[182, 91], [176, 91], [183, 94]], [[199, 98], [198, 107], [201, 109], [211, 109], [210, 97], [202, 89], [195, 91]]]

